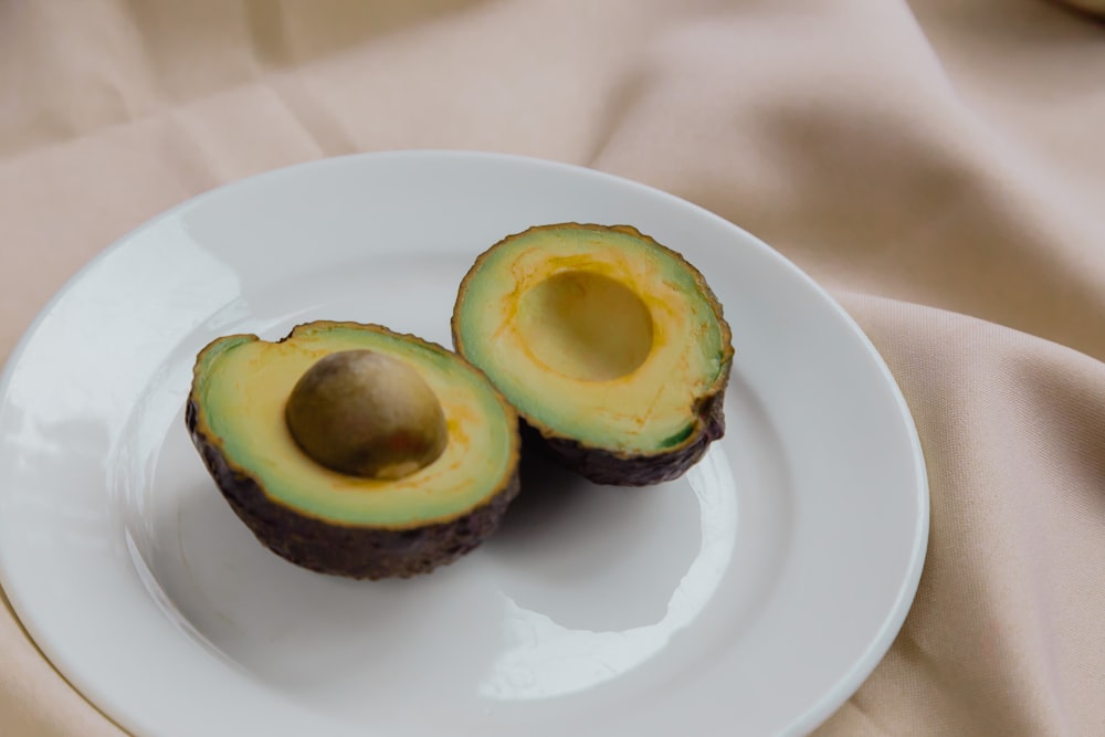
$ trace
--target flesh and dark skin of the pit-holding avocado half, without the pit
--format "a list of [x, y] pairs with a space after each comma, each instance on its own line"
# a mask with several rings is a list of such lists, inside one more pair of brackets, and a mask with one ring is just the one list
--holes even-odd
[[[397, 480], [326, 468], [296, 444], [285, 404], [320, 358], [368, 349], [403, 360], [433, 390], [448, 440]], [[276, 552], [355, 578], [427, 572], [478, 545], [517, 493], [517, 415], [455, 354], [356, 323], [302, 325], [278, 341], [220, 338], [199, 355], [186, 415], [223, 495]]]

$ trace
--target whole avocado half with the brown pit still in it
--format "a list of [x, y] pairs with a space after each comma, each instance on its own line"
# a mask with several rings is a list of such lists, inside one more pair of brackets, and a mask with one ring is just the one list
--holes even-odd
[[[373, 356], [388, 365], [361, 360]], [[403, 367], [398, 378], [391, 364]], [[421, 399], [413, 409], [385, 406], [370, 412], [371, 428], [357, 428], [358, 410], [349, 407], [376, 401], [365, 399], [366, 388], [383, 380], [381, 370], [396, 386], [385, 381], [380, 401]], [[327, 387], [336, 387], [336, 401]], [[428, 408], [423, 389], [440, 410]], [[295, 419], [296, 411], [306, 419]], [[397, 413], [380, 441], [379, 425]], [[326, 573], [429, 572], [495, 531], [518, 492], [514, 409], [456, 354], [377, 325], [317, 322], [277, 343], [255, 335], [214, 340], [197, 358], [186, 422], [220, 491], [261, 543]], [[329, 435], [318, 430], [327, 423]], [[345, 449], [324, 464], [293, 429], [324, 444], [390, 443], [398, 460], [343, 467], [357, 460]]]

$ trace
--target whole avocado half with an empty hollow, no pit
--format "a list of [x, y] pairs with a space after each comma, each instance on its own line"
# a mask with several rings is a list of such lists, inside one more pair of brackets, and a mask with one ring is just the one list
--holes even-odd
[[602, 484], [681, 476], [725, 432], [729, 326], [703, 275], [627, 225], [532, 228], [461, 284], [456, 350], [536, 442]]

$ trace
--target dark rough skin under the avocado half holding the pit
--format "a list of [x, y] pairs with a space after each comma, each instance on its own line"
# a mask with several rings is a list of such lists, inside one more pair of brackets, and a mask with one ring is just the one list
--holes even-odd
[[455, 519], [392, 529], [329, 523], [298, 514], [271, 499], [256, 480], [234, 468], [217, 445], [197, 431], [198, 410], [189, 398], [188, 434], [231, 508], [276, 555], [320, 573], [355, 579], [410, 578], [429, 573], [472, 551], [497, 528], [518, 494], [518, 468], [486, 504]]

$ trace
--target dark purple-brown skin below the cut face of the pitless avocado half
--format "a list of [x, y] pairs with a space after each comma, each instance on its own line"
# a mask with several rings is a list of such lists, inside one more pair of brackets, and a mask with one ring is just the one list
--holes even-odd
[[[728, 379], [726, 366], [724, 379]], [[546, 435], [537, 427], [520, 420], [522, 448], [537, 451], [559, 465], [596, 484], [650, 486], [674, 481], [706, 454], [709, 444], [725, 434], [725, 386], [698, 406], [695, 431], [677, 448], [646, 455], [621, 455], [585, 445], [570, 438]]]

